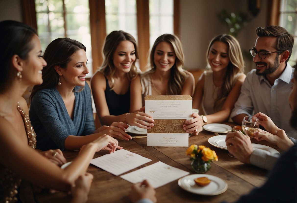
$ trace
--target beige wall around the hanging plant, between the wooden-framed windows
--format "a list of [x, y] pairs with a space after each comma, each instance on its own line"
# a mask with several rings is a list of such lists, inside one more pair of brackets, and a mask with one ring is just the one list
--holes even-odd
[[[261, 1], [261, 9], [237, 36], [242, 50], [248, 52], [255, 44], [255, 29], [266, 27], [268, 0]], [[184, 46], [185, 67], [188, 70], [204, 69], [206, 67], [206, 49], [211, 39], [219, 34], [227, 33], [227, 27], [217, 18], [222, 9], [228, 12], [248, 13], [248, 0], [181, 0], [180, 5], [180, 35]], [[248, 53], [249, 54], [249, 53]], [[244, 57], [246, 72], [254, 68], [252, 57]]]

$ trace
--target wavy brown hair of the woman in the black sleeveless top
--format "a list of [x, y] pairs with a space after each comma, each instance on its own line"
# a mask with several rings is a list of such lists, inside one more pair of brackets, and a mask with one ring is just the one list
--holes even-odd
[[138, 46], [135, 38], [131, 34], [126, 33], [122, 30], [112, 31], [105, 38], [104, 46], [102, 48], [103, 62], [101, 67], [99, 68], [99, 71], [102, 72], [102, 74], [105, 75], [106, 78], [111, 82], [110, 90], [114, 88], [113, 75], [115, 73], [115, 67], [113, 64], [113, 54], [116, 51], [116, 48], [119, 46], [119, 44], [122, 41], [126, 41], [126, 40], [133, 43], [135, 48], [135, 57], [136, 57], [135, 61], [131, 65], [131, 70], [127, 73], [129, 81], [133, 80], [138, 75], [138, 70], [137, 70], [137, 67], [135, 66], [135, 62], [137, 59], [139, 59], [139, 55], [138, 55]]

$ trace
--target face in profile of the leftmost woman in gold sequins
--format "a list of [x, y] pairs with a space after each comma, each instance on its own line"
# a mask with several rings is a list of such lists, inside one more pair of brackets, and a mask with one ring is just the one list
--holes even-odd
[[41, 44], [37, 35], [31, 40], [33, 49], [28, 53], [28, 59], [24, 60], [22, 71], [22, 80], [28, 82], [28, 85], [42, 84], [42, 69], [47, 64], [41, 56]]

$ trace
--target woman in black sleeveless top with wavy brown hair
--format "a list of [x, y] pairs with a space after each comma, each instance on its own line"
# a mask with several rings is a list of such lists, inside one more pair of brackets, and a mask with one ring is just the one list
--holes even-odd
[[146, 129], [154, 126], [154, 120], [146, 113], [137, 111], [129, 114], [130, 83], [138, 74], [135, 62], [139, 57], [135, 38], [122, 30], [113, 31], [106, 36], [102, 53], [102, 67], [91, 79], [100, 123], [110, 125], [121, 121]]

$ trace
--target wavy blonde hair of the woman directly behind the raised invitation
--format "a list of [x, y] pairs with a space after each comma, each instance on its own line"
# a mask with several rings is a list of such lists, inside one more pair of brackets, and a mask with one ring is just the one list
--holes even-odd
[[143, 77], [147, 74], [150, 74], [152, 72], [156, 71], [156, 64], [154, 63], [154, 54], [156, 51], [156, 46], [160, 42], [167, 42], [172, 45], [174, 53], [176, 55], [175, 63], [173, 67], [170, 69], [170, 80], [168, 83], [168, 95], [179, 95], [181, 94], [181, 90], [183, 88], [183, 84], [187, 79], [187, 72], [183, 69], [184, 67], [184, 51], [182, 48], [181, 41], [179, 38], [172, 34], [164, 34], [159, 36], [150, 53], [150, 64], [151, 64], [151, 70], [145, 72], [143, 74]]

